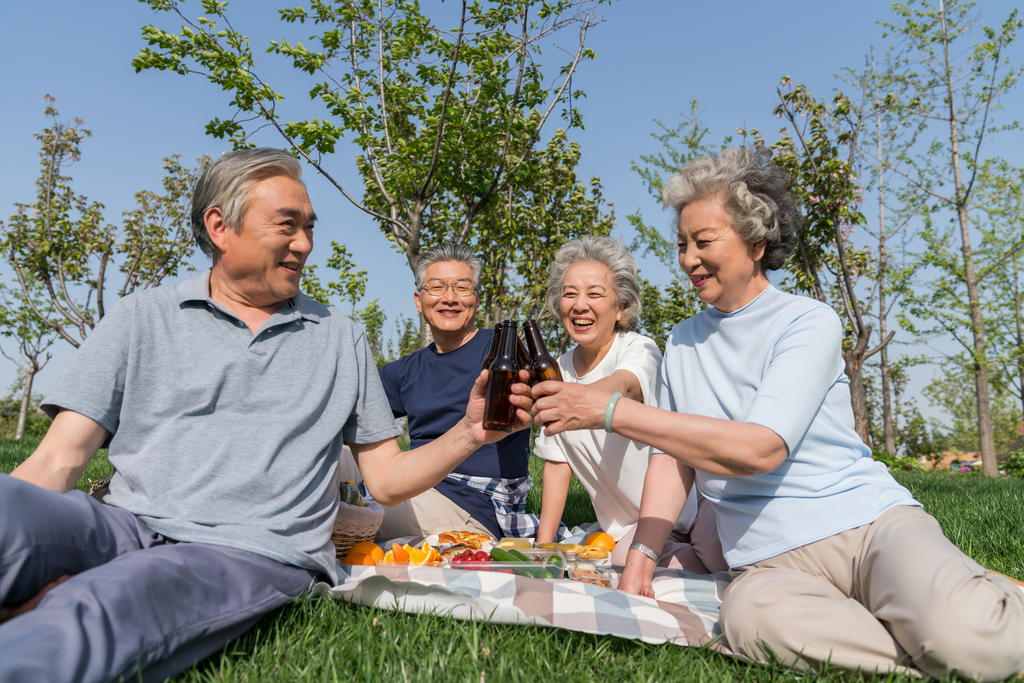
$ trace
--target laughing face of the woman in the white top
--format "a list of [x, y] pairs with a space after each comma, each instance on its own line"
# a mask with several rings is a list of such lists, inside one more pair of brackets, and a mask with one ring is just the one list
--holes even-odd
[[562, 280], [562, 325], [584, 347], [604, 346], [615, 334], [623, 311], [611, 284], [611, 270], [596, 261], [577, 261]]

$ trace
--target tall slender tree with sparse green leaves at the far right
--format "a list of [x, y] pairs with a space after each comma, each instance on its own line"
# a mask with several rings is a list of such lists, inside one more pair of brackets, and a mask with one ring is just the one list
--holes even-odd
[[[1011, 52], [1022, 27], [1016, 9], [1001, 25], [981, 27], [982, 40], [964, 44], [976, 23], [974, 7], [963, 0], [940, 1], [938, 6], [911, 0], [894, 4], [897, 20], [883, 25], [903, 46], [901, 68], [894, 75], [907, 93], [900, 105], [934, 126], [927, 151], [901, 158], [906, 170], [900, 172], [928, 202], [922, 266], [926, 278], [934, 275], [920, 283], [918, 295], [908, 297], [909, 308], [922, 321], [919, 331], [941, 331], [962, 345], [966, 342], [974, 369], [982, 470], [994, 476], [991, 359], [982, 293], [991, 261], [985, 263], [985, 247], [977, 244], [982, 226], [976, 216], [1009, 180], [998, 180], [997, 164], [983, 154], [993, 134], [1019, 128], [1016, 121], [993, 123], [993, 116], [999, 97], [1017, 85], [1024, 60]], [[1013, 181], [1021, 177], [1015, 170]], [[950, 214], [948, 224], [939, 222]], [[989, 241], [988, 248], [993, 245]]]

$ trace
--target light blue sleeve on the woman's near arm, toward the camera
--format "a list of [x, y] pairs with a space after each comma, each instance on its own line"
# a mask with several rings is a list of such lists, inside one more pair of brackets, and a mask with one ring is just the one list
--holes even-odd
[[816, 307], [787, 325], [743, 421], [768, 427], [793, 453], [828, 391], [846, 380], [842, 344], [843, 325], [830, 308]]

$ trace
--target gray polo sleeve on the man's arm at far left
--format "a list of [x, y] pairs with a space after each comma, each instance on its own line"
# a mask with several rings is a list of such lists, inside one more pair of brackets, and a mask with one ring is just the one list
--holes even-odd
[[51, 418], [61, 409], [80, 413], [112, 435], [121, 422], [128, 354], [132, 346], [131, 297], [119, 299], [72, 356], [42, 403]]

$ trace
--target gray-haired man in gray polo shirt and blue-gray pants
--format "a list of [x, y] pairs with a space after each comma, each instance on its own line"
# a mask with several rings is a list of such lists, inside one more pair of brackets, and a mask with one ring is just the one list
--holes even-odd
[[[119, 301], [47, 396], [40, 446], [0, 475], [0, 680], [188, 668], [335, 581], [343, 442], [394, 505], [504, 436], [477, 382], [462, 422], [400, 451], [362, 331], [299, 291], [315, 221], [300, 173], [275, 150], [210, 166], [193, 230], [212, 268]], [[72, 489], [106, 441], [101, 505]]]

